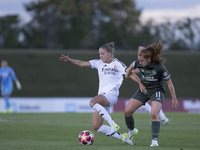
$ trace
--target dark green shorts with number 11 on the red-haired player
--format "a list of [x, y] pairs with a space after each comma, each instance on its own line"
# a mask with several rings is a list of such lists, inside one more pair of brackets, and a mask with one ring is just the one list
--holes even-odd
[[142, 102], [143, 105], [150, 100], [152, 101], [158, 101], [161, 104], [164, 103], [165, 100], [165, 93], [163, 91], [158, 92], [148, 92], [147, 95], [144, 95], [139, 89], [133, 94], [131, 98], [137, 99], [138, 101]]

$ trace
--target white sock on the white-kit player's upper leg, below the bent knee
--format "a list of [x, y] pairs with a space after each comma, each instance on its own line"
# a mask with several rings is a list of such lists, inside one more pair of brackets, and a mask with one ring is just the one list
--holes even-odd
[[106, 111], [106, 109], [105, 109], [102, 105], [96, 103], [96, 104], [93, 106], [93, 109], [94, 109], [104, 120], [106, 120], [106, 121], [109, 123], [110, 126], [116, 125], [116, 123], [114, 122], [114, 120], [112, 120], [110, 114]]

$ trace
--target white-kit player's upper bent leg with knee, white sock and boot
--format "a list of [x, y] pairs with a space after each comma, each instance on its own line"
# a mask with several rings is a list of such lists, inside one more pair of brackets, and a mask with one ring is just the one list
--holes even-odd
[[[115, 98], [117, 101], [117, 98]], [[108, 124], [111, 126], [110, 134], [113, 134], [119, 130], [119, 126], [114, 122], [114, 120], [111, 118], [110, 114], [107, 112], [107, 110], [104, 107], [109, 107], [110, 102], [108, 99], [100, 94], [94, 97], [90, 101], [90, 106], [105, 120], [108, 122]]]

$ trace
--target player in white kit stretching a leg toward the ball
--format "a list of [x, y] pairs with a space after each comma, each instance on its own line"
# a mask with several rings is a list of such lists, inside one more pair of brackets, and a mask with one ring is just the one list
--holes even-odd
[[[92, 67], [98, 70], [99, 90], [98, 95], [90, 101], [90, 106], [95, 110], [93, 114], [93, 129], [107, 136], [117, 138], [125, 143], [134, 145], [127, 134], [118, 133], [119, 126], [110, 116], [110, 109], [117, 103], [119, 88], [123, 82], [123, 75], [126, 74], [127, 67], [122, 62], [113, 58], [114, 43], [107, 43], [99, 48], [100, 59], [90, 61], [80, 61], [70, 59], [69, 56], [61, 55], [60, 60], [69, 62], [78, 67]], [[141, 88], [144, 85], [139, 78], [133, 74], [134, 79]], [[106, 120], [108, 125], [103, 125]]]

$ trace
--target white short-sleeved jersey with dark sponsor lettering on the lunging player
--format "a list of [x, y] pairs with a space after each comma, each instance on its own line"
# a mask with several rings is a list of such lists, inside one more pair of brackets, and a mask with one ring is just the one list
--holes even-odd
[[89, 61], [92, 68], [98, 70], [99, 91], [98, 94], [113, 93], [119, 95], [119, 88], [123, 82], [123, 75], [126, 74], [127, 67], [117, 59], [110, 64], [102, 62], [101, 59]]

